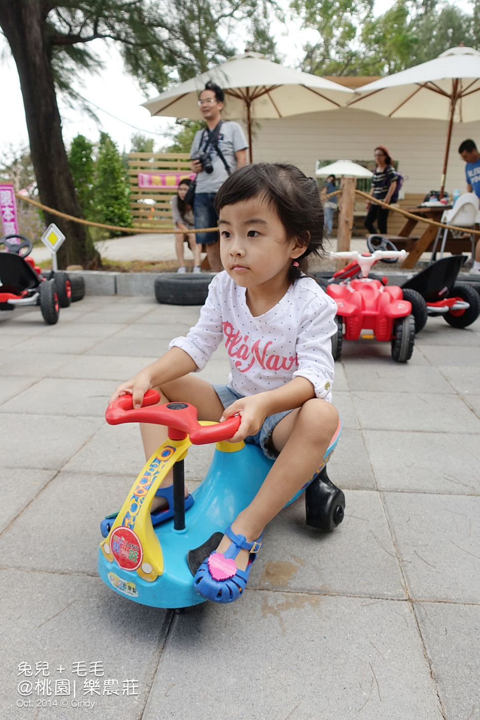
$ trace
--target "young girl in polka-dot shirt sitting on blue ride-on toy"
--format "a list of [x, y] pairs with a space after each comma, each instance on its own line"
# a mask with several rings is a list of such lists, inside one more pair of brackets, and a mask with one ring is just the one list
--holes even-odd
[[[138, 408], [156, 388], [161, 402], [195, 405], [201, 420], [239, 413], [231, 441], [257, 444], [275, 459], [252, 503], [195, 575], [197, 593], [225, 603], [239, 598], [263, 529], [312, 477], [337, 429], [330, 402], [337, 306], [303, 274], [307, 256], [322, 248], [324, 213], [314, 179], [291, 165], [246, 166], [221, 186], [216, 204], [225, 271], [210, 284], [197, 325], [119, 385], [110, 402], [131, 393]], [[231, 372], [226, 386], [212, 386], [194, 372], [222, 339]], [[143, 425], [141, 432], [148, 458], [166, 428]]]

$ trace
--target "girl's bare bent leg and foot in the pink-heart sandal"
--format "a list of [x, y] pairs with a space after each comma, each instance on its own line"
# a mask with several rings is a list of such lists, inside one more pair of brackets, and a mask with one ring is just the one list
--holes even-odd
[[[272, 444], [280, 451], [252, 503], [236, 517], [232, 529], [249, 542], [257, 540], [267, 523], [293, 498], [321, 464], [338, 426], [337, 410], [326, 400], [307, 400], [301, 408], [280, 420], [272, 433]], [[218, 552], [230, 539], [223, 536]], [[235, 562], [245, 570], [249, 552], [241, 550]]]

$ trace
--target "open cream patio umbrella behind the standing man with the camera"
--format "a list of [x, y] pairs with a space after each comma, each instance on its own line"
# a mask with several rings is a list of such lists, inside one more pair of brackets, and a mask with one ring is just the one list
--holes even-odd
[[245, 117], [252, 162], [252, 119], [288, 117], [304, 112], [330, 110], [345, 105], [353, 91], [316, 75], [285, 68], [265, 59], [262, 53], [235, 55], [226, 63], [185, 81], [144, 102], [152, 115], [203, 117], [197, 105], [198, 93], [207, 81], [226, 94], [229, 118]]

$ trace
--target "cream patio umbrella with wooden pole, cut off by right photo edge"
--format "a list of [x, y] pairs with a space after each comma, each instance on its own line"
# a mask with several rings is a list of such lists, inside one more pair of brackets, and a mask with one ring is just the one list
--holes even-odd
[[453, 122], [480, 120], [480, 53], [474, 48], [450, 48], [435, 60], [364, 85], [348, 105], [387, 117], [448, 120], [441, 178], [443, 195]]

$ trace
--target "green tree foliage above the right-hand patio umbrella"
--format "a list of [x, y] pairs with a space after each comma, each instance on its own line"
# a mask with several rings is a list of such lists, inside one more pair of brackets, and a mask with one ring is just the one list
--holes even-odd
[[[319, 32], [302, 69], [317, 75], [385, 75], [437, 58], [463, 42], [479, 45], [480, 0], [473, 14], [437, 0], [397, 0], [373, 17], [370, 0], [293, 0], [303, 27]], [[478, 30], [476, 30], [478, 28]]]

